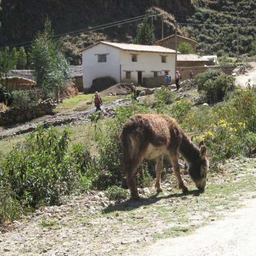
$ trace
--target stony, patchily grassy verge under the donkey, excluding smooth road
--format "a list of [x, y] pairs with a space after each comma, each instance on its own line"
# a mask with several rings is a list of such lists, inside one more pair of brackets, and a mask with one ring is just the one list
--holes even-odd
[[179, 192], [171, 175], [163, 193], [144, 188], [139, 202], [114, 202], [105, 192], [91, 191], [41, 207], [2, 228], [0, 255], [138, 255], [164, 238], [193, 234], [255, 198], [256, 160], [228, 161], [222, 171], [208, 175], [204, 192], [187, 175], [183, 179], [188, 194]]

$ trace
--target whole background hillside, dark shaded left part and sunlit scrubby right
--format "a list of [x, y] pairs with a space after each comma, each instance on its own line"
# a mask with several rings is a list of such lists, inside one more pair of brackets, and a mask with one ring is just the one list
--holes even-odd
[[[3, 1], [2, 8], [0, 47], [32, 41], [48, 17], [53, 23], [55, 35], [63, 34], [56, 38], [60, 38], [70, 63], [74, 65], [81, 64], [79, 51], [96, 41], [131, 42], [141, 20], [75, 36], [66, 33], [143, 14], [163, 14], [164, 37], [174, 33], [174, 23], [179, 22], [178, 33], [196, 39], [199, 42], [198, 49], [203, 49], [206, 54], [236, 54], [238, 32], [240, 54], [249, 53], [251, 43], [255, 40], [254, 0], [76, 0], [72, 1], [72, 6], [66, 0], [45, 0], [43, 3], [36, 0], [9, 0]], [[156, 39], [161, 39], [161, 17], [155, 17], [152, 22]], [[237, 22], [251, 26], [240, 25], [237, 30], [237, 26], [232, 25]], [[29, 45], [25, 43], [27, 49]]]

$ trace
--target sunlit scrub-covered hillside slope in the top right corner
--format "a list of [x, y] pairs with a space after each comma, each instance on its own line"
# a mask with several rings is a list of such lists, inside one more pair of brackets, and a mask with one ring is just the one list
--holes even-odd
[[[206, 54], [228, 53], [232, 56], [237, 52], [237, 38], [239, 38], [239, 53], [249, 53], [256, 35], [256, 2], [254, 0], [197, 2], [196, 12], [188, 18], [187, 22], [209, 25], [186, 26], [184, 32], [199, 42], [200, 49], [203, 49]], [[237, 26], [232, 25], [236, 23], [252, 25], [240, 25], [238, 29]]]

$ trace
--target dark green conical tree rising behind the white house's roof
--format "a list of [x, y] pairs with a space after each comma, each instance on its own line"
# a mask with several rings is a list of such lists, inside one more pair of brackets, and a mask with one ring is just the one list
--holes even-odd
[[153, 45], [155, 41], [154, 26], [148, 24], [148, 17], [145, 17], [137, 26], [137, 37], [135, 37], [133, 43], [138, 45]]

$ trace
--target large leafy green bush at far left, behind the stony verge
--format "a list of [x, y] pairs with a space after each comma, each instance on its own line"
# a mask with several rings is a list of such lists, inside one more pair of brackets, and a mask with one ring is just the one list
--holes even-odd
[[26, 205], [53, 205], [81, 184], [80, 166], [67, 154], [69, 132], [37, 130], [18, 144], [3, 161], [1, 180], [9, 184], [17, 200]]

